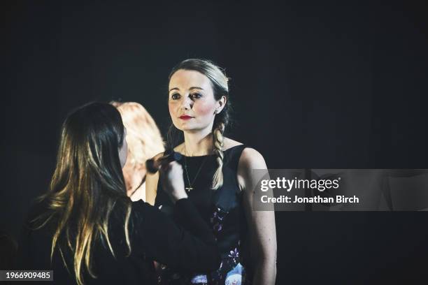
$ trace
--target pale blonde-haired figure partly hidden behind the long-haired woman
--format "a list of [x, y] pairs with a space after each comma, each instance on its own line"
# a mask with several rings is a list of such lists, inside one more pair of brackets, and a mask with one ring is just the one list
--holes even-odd
[[127, 195], [131, 200], [145, 200], [145, 161], [164, 152], [164, 142], [155, 120], [136, 102], [110, 102], [119, 110], [127, 129], [128, 159], [123, 168]]

